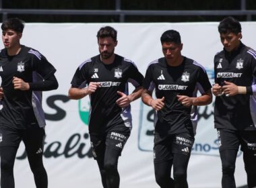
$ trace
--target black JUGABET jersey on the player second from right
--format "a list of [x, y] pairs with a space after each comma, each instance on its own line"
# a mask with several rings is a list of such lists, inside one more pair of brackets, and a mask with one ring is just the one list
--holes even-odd
[[150, 63], [143, 87], [148, 91], [156, 89], [156, 97], [165, 98], [164, 107], [155, 117], [156, 134], [184, 132], [186, 126], [191, 126], [191, 107], [183, 106], [177, 95], [193, 97], [196, 85], [204, 91], [212, 87], [205, 69], [194, 60], [184, 57], [179, 66], [169, 66], [165, 58]]

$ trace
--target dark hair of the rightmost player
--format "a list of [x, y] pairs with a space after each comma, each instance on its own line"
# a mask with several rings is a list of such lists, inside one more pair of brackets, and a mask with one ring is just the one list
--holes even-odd
[[220, 34], [226, 34], [232, 32], [234, 34], [238, 34], [242, 32], [241, 23], [234, 19], [234, 17], [226, 17], [220, 21], [218, 26], [218, 31]]

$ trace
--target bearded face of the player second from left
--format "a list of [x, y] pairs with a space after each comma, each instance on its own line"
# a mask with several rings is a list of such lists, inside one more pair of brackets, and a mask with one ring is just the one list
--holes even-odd
[[115, 51], [115, 46], [117, 46], [117, 41], [114, 42], [111, 37], [98, 38], [98, 49], [102, 59], [112, 57]]

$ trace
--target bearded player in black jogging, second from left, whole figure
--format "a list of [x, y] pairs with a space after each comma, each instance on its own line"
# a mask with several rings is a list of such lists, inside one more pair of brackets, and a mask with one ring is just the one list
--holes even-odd
[[[131, 101], [141, 96], [143, 75], [131, 60], [114, 53], [117, 31], [110, 26], [97, 34], [100, 54], [77, 68], [70, 99], [90, 96], [89, 134], [103, 187], [118, 188], [117, 162], [131, 133]], [[129, 95], [128, 82], [135, 87]]]

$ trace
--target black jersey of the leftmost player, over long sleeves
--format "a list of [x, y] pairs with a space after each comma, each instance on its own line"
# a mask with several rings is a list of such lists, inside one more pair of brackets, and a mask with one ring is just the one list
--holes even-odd
[[40, 52], [22, 46], [15, 56], [8, 56], [7, 49], [0, 52], [0, 76], [4, 97], [0, 111], [0, 124], [11, 128], [24, 129], [33, 124], [45, 126], [42, 110], [41, 91], [14, 89], [13, 77], [27, 83], [46, 79], [55, 73], [55, 68]]

